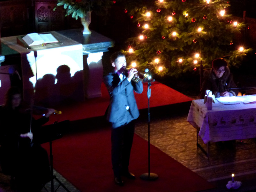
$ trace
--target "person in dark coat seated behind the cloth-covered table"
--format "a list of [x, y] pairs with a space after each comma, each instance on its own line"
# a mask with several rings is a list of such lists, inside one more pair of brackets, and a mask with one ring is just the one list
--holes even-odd
[[237, 94], [229, 88], [236, 87], [233, 76], [227, 66], [227, 62], [218, 58], [212, 61], [212, 69], [209, 74], [204, 74], [200, 98], [203, 99], [206, 90], [211, 90], [215, 97], [229, 97]]

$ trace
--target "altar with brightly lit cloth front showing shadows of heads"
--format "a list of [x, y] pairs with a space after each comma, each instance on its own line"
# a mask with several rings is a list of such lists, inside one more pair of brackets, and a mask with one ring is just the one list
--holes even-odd
[[101, 57], [114, 42], [94, 31], [83, 35], [80, 29], [49, 33], [61, 44], [27, 49], [17, 43], [17, 36], [1, 38], [3, 46], [20, 54], [20, 64], [9, 63], [7, 74], [20, 73], [24, 100], [29, 102], [33, 96], [39, 104], [54, 106], [100, 97]]

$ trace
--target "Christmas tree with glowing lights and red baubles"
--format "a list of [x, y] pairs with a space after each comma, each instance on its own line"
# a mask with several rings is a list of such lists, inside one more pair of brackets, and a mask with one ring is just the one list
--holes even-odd
[[[246, 25], [228, 14], [227, 0], [126, 0], [125, 12], [138, 34], [127, 41], [127, 63], [159, 76], [180, 76], [223, 57], [229, 65], [250, 49], [240, 45]], [[130, 4], [129, 4], [130, 2]], [[240, 35], [240, 36], [239, 36]]]

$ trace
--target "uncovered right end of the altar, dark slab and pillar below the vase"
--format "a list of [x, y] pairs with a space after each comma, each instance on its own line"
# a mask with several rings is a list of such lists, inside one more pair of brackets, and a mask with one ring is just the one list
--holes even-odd
[[91, 34], [82, 34], [81, 29], [58, 31], [78, 43], [83, 44], [84, 62], [84, 94], [86, 98], [101, 96], [101, 83], [103, 78], [102, 55], [114, 46], [114, 41], [95, 31]]

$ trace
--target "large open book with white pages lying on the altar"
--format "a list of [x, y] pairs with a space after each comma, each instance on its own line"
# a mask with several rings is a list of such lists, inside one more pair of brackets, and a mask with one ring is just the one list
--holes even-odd
[[33, 45], [42, 45], [47, 43], [56, 43], [59, 42], [52, 34], [38, 34], [38, 33], [29, 33], [24, 36], [23, 41], [25, 41], [28, 46]]

